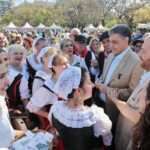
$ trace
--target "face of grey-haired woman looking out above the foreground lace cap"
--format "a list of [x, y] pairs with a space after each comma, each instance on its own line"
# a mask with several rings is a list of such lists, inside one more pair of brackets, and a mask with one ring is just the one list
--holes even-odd
[[71, 41], [67, 41], [64, 44], [63, 51], [69, 56], [73, 55], [73, 43]]

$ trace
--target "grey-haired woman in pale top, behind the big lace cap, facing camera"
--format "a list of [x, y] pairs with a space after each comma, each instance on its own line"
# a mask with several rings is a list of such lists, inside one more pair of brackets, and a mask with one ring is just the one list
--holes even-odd
[[64, 39], [60, 45], [61, 50], [68, 55], [70, 65], [79, 66], [87, 69], [85, 61], [80, 56], [74, 55], [73, 41], [71, 39]]

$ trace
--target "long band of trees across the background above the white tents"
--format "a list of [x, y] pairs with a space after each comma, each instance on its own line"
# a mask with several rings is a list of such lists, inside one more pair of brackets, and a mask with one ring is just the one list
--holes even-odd
[[[6, 12], [0, 18], [0, 26], [8, 25], [12, 21], [18, 26], [24, 25], [25, 22], [33, 26], [39, 23], [46, 26], [56, 23], [68, 27], [84, 27], [91, 23], [97, 26], [102, 23], [109, 28], [117, 23], [127, 23], [132, 28], [139, 22], [150, 22], [150, 6], [148, 5], [134, 4], [125, 8], [119, 0], [57, 1], [55, 5], [24, 3]], [[120, 2], [119, 5], [117, 2]]]

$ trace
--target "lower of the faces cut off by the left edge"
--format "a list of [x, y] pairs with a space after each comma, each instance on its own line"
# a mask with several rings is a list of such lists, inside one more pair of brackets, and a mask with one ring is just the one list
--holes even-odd
[[7, 72], [0, 73], [0, 91], [5, 91], [8, 84]]

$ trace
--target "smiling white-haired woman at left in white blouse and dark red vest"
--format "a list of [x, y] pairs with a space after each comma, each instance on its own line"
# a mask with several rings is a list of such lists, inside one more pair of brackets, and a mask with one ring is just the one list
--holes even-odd
[[7, 95], [11, 108], [17, 108], [29, 98], [28, 82], [24, 77], [25, 48], [19, 44], [8, 47], [8, 79]]

